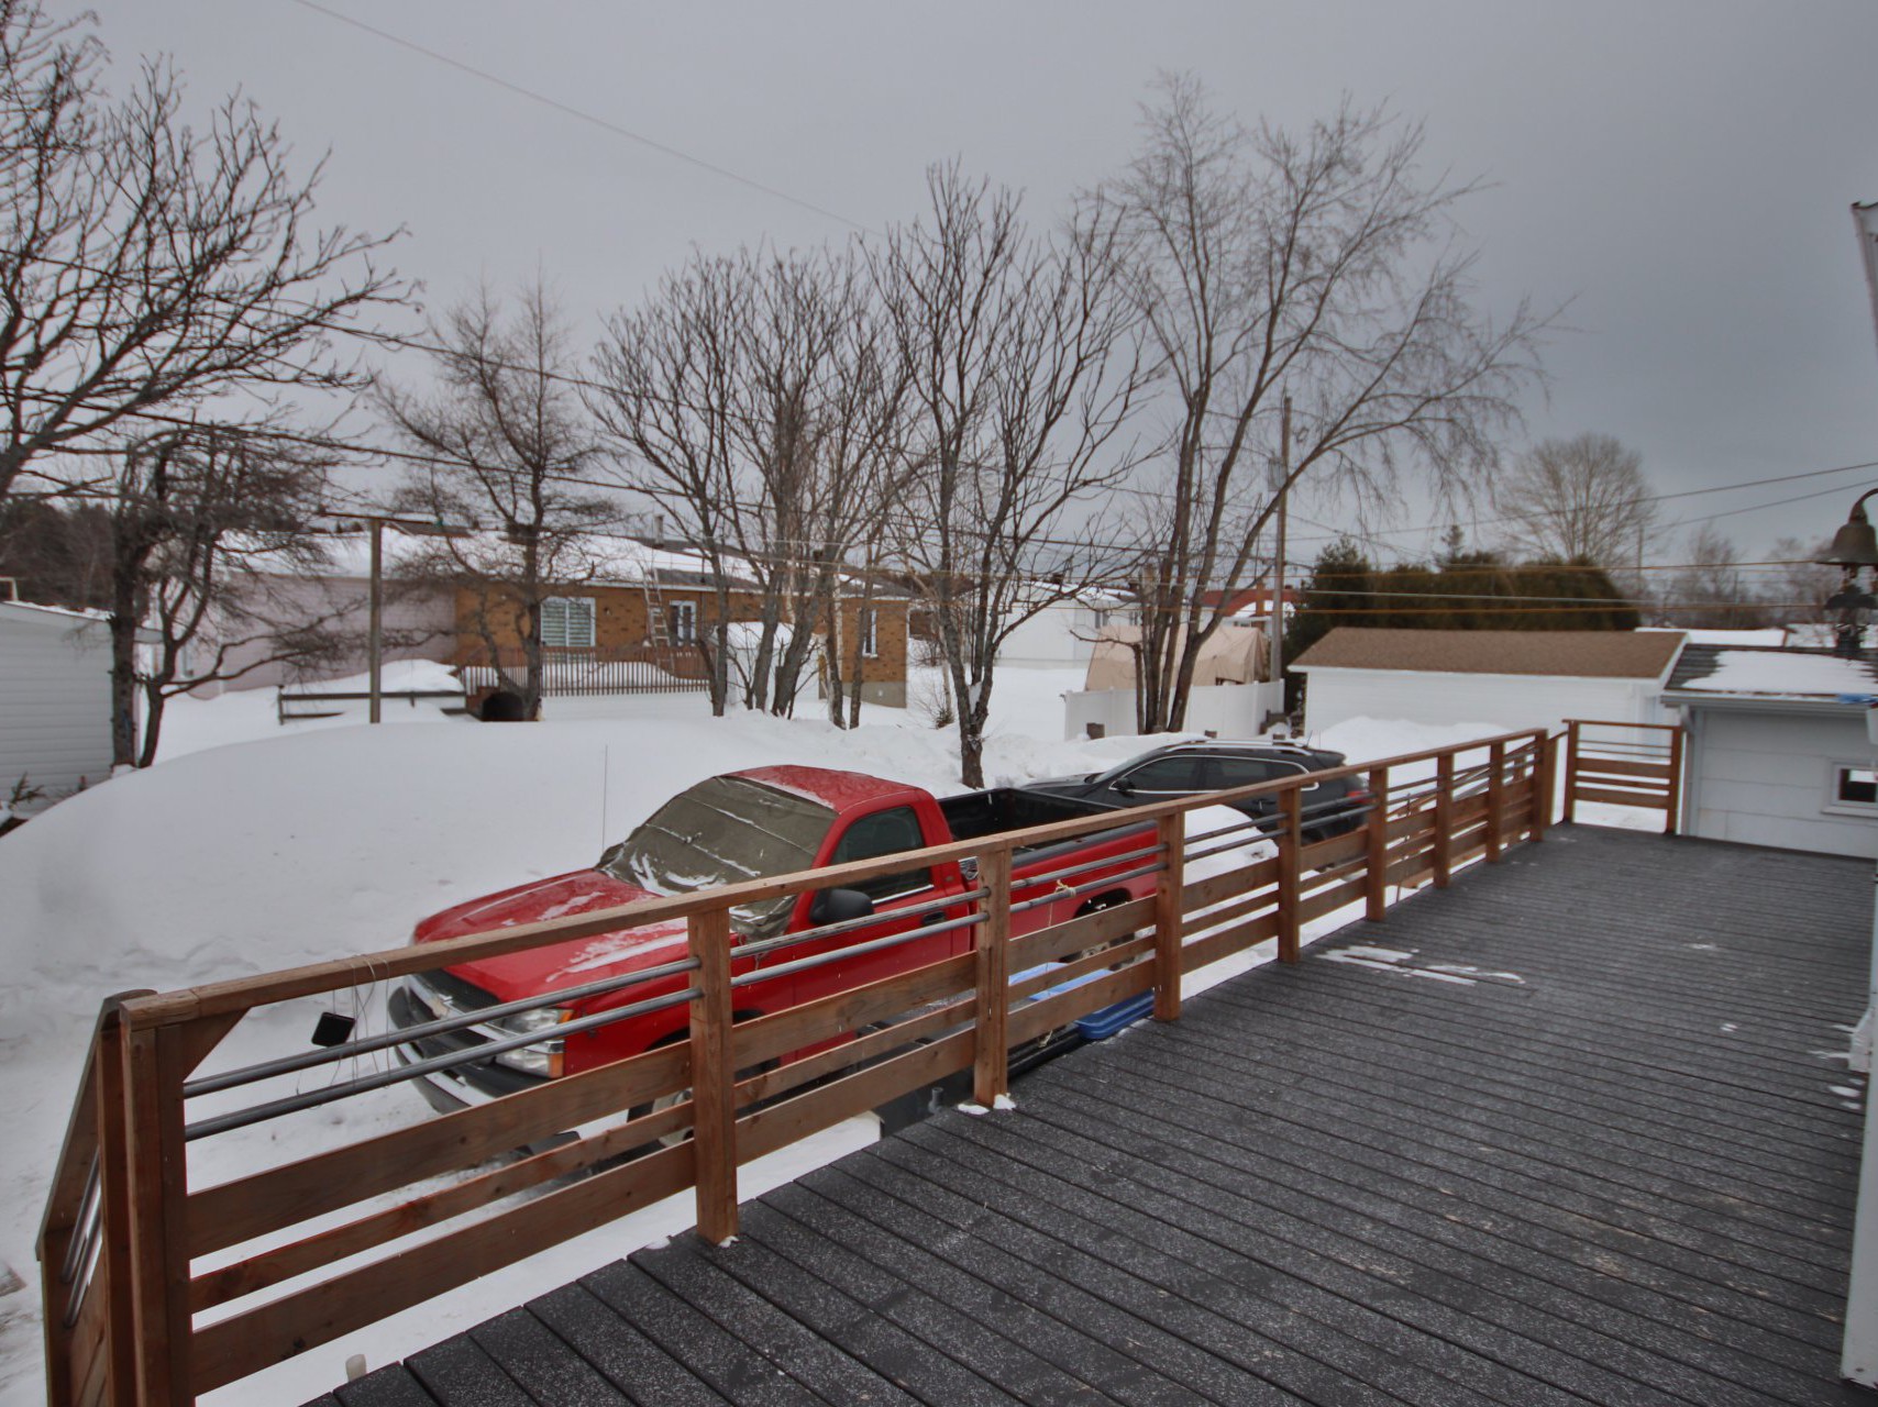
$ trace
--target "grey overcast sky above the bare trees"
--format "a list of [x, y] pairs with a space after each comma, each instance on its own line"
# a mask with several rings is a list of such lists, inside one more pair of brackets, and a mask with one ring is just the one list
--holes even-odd
[[[950, 156], [1050, 220], [1129, 156], [1155, 73], [1191, 70], [1245, 120], [1388, 101], [1425, 120], [1431, 165], [1493, 182], [1461, 209], [1482, 302], [1572, 301], [1527, 438], [1615, 434], [1664, 494], [1878, 460], [1848, 212], [1878, 201], [1870, 0], [319, 4], [828, 212], [299, 0], [96, 6], [120, 70], [169, 51], [197, 105], [240, 86], [306, 160], [331, 150], [321, 216], [406, 225], [396, 265], [432, 304], [539, 269], [592, 327], [693, 244], [806, 246], [915, 218], [926, 165]], [[1861, 470], [1664, 509], [1728, 513], [1715, 526], [1756, 558], [1782, 533], [1827, 535], [1874, 485]], [[1412, 554], [1429, 537], [1392, 541]]]

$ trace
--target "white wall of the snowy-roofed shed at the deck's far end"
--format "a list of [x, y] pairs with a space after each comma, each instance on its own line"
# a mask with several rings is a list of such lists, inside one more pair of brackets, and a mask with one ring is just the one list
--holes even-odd
[[1685, 825], [1743, 845], [1878, 858], [1878, 813], [1827, 810], [1833, 766], [1870, 765], [1859, 706], [1686, 708]]

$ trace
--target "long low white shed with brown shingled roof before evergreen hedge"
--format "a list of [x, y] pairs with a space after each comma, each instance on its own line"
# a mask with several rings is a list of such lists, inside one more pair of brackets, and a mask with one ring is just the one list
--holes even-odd
[[1506, 733], [1568, 718], [1660, 723], [1675, 631], [1369, 629], [1339, 626], [1292, 665], [1305, 725], [1352, 718], [1489, 723]]

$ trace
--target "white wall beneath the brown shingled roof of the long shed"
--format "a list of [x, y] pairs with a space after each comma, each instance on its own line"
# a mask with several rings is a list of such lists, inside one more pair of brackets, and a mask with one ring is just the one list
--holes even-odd
[[1437, 674], [1311, 665], [1305, 727], [1326, 733], [1352, 718], [1405, 723], [1487, 723], [1502, 733], [1557, 729], [1568, 718], [1662, 723], [1662, 680], [1572, 674]]

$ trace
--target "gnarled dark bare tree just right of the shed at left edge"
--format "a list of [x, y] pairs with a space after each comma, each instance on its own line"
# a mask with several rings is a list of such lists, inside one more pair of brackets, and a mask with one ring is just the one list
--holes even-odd
[[308, 614], [282, 590], [282, 573], [323, 560], [308, 524], [325, 472], [255, 426], [124, 447], [109, 505], [113, 765], [156, 761], [169, 699], [340, 648], [342, 612]]

